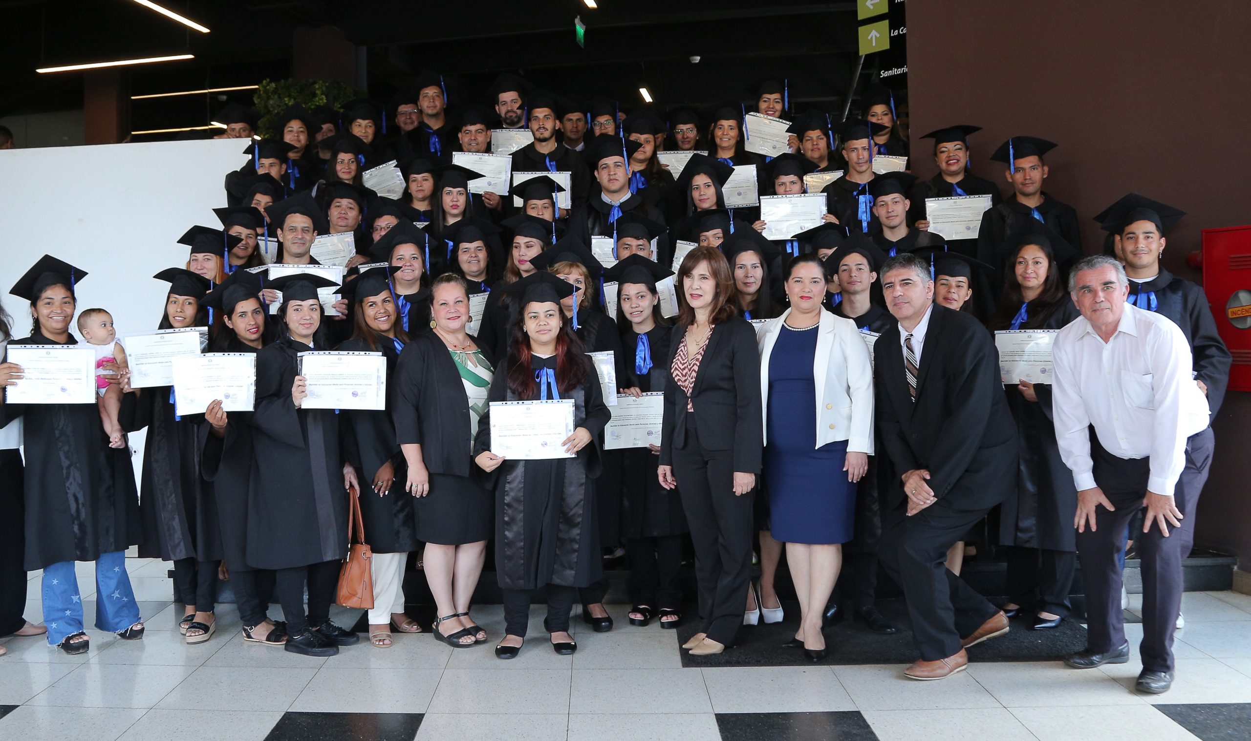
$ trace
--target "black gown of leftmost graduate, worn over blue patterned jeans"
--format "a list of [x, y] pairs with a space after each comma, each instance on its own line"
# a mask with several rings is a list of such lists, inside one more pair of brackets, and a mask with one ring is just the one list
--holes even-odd
[[[14, 345], [56, 345], [43, 335]], [[70, 336], [68, 345], [78, 341]], [[24, 417], [25, 570], [95, 561], [139, 542], [130, 451], [109, 447], [93, 404], [0, 404], [0, 427]]]

